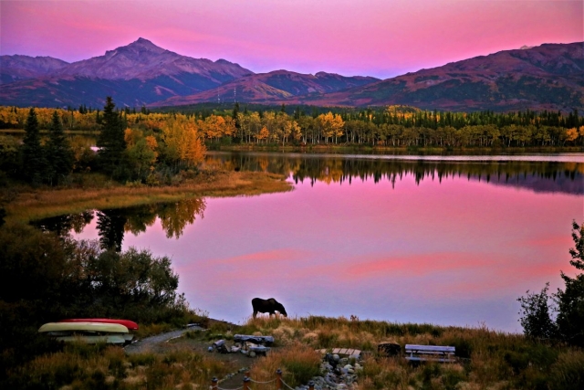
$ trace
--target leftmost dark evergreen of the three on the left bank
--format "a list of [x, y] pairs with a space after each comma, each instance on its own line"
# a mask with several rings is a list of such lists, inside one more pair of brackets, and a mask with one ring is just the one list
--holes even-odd
[[26, 119], [25, 138], [22, 145], [22, 173], [26, 181], [40, 184], [45, 173], [45, 155], [40, 144], [40, 132], [35, 109], [30, 109]]

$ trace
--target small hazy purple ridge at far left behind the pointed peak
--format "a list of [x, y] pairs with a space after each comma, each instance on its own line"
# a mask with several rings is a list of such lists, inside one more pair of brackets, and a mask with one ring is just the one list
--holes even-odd
[[67, 65], [52, 57], [0, 56], [0, 84], [46, 76]]

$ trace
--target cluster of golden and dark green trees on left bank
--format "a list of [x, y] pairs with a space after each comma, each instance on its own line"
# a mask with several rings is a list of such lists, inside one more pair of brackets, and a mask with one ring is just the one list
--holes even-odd
[[[11, 123], [23, 121], [23, 110], [8, 111], [19, 118]], [[194, 117], [140, 114], [131, 118], [116, 111], [110, 98], [103, 111], [83, 111], [71, 116], [62, 110], [26, 110], [22, 141], [0, 135], [0, 171], [31, 184], [57, 185], [68, 182], [73, 172], [97, 171], [122, 182], [159, 185], [177, 184], [183, 172], [196, 170], [203, 162], [206, 149]], [[83, 119], [78, 125], [87, 125], [87, 130], [99, 129], [97, 152], [83, 137], [66, 136], [64, 127], [76, 118]], [[223, 118], [217, 121], [221, 125]]]

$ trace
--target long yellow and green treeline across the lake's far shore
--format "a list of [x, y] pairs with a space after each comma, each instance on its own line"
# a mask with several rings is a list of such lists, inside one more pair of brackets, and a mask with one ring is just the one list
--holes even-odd
[[[48, 126], [57, 111], [70, 130], [101, 129], [105, 112], [80, 107], [78, 110], [38, 109], [40, 126]], [[391, 106], [379, 110], [342, 110], [297, 107], [291, 113], [280, 110], [185, 109], [151, 113], [117, 111], [124, 127], [156, 129], [162, 122], [182, 117], [194, 123], [207, 142], [263, 144], [358, 144], [391, 147], [527, 147], [584, 145], [584, 118], [578, 112], [517, 111], [510, 113], [421, 111]], [[22, 128], [23, 109], [0, 108], [0, 127]]]

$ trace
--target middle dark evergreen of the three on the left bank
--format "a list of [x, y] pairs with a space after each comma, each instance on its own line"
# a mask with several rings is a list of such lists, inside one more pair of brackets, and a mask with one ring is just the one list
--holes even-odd
[[57, 111], [53, 112], [53, 118], [48, 128], [48, 142], [46, 145], [47, 176], [49, 184], [57, 185], [59, 178], [67, 176], [73, 169], [73, 150], [65, 132]]

